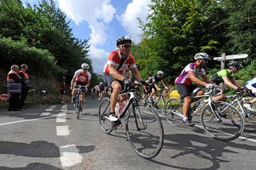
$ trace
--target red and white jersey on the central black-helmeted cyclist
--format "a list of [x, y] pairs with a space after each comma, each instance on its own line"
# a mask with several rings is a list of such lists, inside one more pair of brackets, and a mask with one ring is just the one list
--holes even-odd
[[[122, 60], [122, 56], [120, 55], [120, 53], [118, 53], [118, 50], [112, 51], [107, 59], [107, 62], [106, 62], [106, 65], [104, 66], [103, 72], [107, 73], [107, 74], [110, 73], [110, 69], [109, 69], [108, 65], [114, 65], [115, 69], [118, 69], [118, 66], [119, 66], [121, 60]], [[134, 56], [131, 53], [126, 58], [126, 61], [124, 61], [124, 63], [122, 64], [122, 67], [120, 69], [118, 69], [118, 72], [121, 74], [125, 74], [126, 68], [128, 65], [130, 66], [130, 69], [137, 67], [135, 60], [134, 60]]]

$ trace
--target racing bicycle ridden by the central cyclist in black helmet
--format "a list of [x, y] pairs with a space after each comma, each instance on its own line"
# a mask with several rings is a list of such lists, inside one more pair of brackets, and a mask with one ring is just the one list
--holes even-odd
[[126, 122], [126, 135], [130, 146], [143, 158], [151, 159], [157, 156], [162, 149], [164, 132], [162, 121], [157, 113], [148, 105], [140, 103], [138, 96], [131, 83], [125, 85], [121, 94], [126, 93], [129, 97], [122, 114], [118, 121], [109, 121], [107, 116], [110, 114], [110, 98], [102, 99], [98, 110], [99, 123], [103, 132], [109, 134], [120, 126], [120, 121]]

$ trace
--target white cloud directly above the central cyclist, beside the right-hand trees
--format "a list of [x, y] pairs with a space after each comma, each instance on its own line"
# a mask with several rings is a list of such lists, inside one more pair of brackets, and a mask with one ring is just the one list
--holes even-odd
[[141, 40], [140, 34], [142, 34], [142, 30], [138, 27], [137, 18], [140, 18], [142, 22], [146, 22], [146, 17], [150, 10], [148, 4], [150, 4], [150, 0], [133, 0], [126, 7], [125, 13], [117, 16], [134, 42], [140, 42]]

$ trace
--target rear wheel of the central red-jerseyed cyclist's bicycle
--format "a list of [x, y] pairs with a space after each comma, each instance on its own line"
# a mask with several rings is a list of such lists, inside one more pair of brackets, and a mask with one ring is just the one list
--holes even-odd
[[112, 122], [106, 119], [107, 114], [110, 113], [110, 98], [104, 97], [98, 109], [98, 118], [99, 124], [102, 128], [102, 131], [106, 134], [110, 134], [113, 130]]

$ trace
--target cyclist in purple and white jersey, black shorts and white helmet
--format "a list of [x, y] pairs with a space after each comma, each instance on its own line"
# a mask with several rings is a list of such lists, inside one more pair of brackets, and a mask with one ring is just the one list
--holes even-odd
[[[194, 59], [196, 61], [186, 65], [185, 69], [182, 70], [182, 73], [179, 75], [179, 77], [177, 77], [174, 81], [175, 85], [177, 85], [178, 93], [180, 93], [181, 97], [184, 98], [182, 122], [189, 126], [194, 125], [188, 119], [188, 111], [192, 102], [191, 93], [196, 96], [203, 94], [203, 91], [196, 85], [192, 84], [192, 82], [198, 85], [206, 86], [207, 88], [213, 86], [213, 82], [210, 81], [208, 77], [206, 77], [205, 69], [203, 69], [203, 67], [206, 67], [206, 63], [209, 60], [208, 54], [196, 53]], [[202, 77], [203, 81], [198, 78], [199, 76]]]

